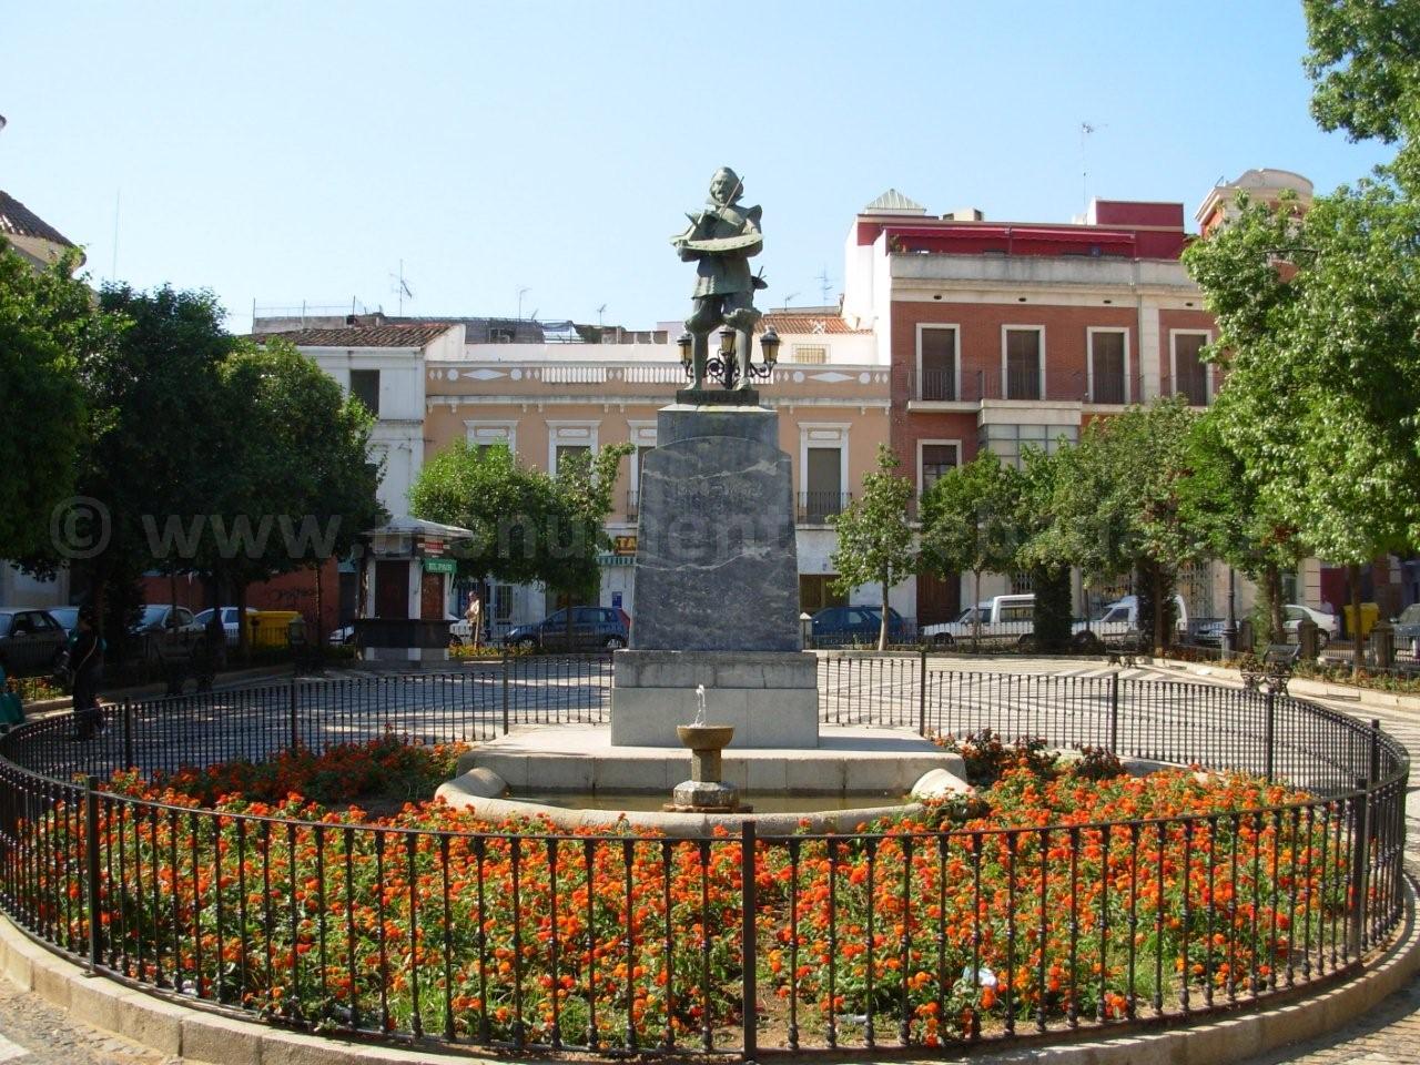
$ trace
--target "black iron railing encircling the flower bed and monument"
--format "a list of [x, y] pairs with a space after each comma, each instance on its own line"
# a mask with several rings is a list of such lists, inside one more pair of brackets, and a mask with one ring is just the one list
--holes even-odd
[[0, 905], [98, 974], [248, 1020], [741, 1058], [1008, 1044], [1287, 1000], [1352, 976], [1404, 916], [1409, 758], [1376, 723], [1118, 673], [821, 656], [822, 723], [991, 728], [1311, 797], [1240, 790], [1264, 801], [1126, 816], [1130, 782], [1120, 816], [1091, 824], [767, 836], [751, 819], [663, 839], [210, 811], [104, 780], [605, 721], [609, 690], [608, 656], [530, 657], [125, 703], [89, 743], [62, 717], [24, 724], [0, 737]]

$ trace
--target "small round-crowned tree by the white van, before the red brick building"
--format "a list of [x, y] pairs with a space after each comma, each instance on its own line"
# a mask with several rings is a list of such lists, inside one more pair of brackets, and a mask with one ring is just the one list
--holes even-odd
[[[978, 602], [983, 572], [1015, 568], [1021, 487], [1020, 473], [991, 452], [939, 477], [922, 497], [924, 568], [939, 577], [970, 571]], [[973, 640], [980, 626], [980, 612], [973, 612]]]

